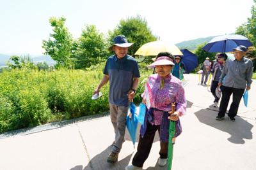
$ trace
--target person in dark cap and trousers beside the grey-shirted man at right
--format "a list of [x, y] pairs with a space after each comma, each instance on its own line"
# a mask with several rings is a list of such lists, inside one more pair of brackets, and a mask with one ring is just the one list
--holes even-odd
[[218, 83], [220, 80], [220, 75], [222, 73], [223, 67], [225, 65], [225, 60], [227, 60], [228, 56], [225, 53], [220, 53], [217, 55], [218, 59], [214, 62], [211, 73], [212, 73], [212, 83], [211, 83], [211, 92], [214, 96], [214, 108], [218, 107], [218, 103], [220, 100], [220, 97], [216, 96], [216, 88], [218, 87]]

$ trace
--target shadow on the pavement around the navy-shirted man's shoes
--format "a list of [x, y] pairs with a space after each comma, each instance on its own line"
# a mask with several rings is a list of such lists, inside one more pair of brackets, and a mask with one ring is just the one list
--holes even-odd
[[129, 164], [129, 161], [132, 157], [132, 154], [128, 155], [124, 159], [118, 159], [118, 162], [115, 164], [109, 164], [107, 162], [107, 158], [109, 153], [111, 152], [111, 146], [106, 148], [103, 152], [99, 153], [95, 157], [93, 157], [88, 165], [83, 168], [82, 165], [72, 167], [70, 170], [102, 170], [102, 169], [113, 169], [113, 170], [120, 170], [125, 169], [125, 166]]

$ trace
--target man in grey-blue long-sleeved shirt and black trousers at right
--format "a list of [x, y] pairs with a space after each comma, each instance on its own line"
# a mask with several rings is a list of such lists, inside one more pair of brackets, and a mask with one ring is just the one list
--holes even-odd
[[248, 49], [246, 46], [239, 45], [233, 50], [235, 59], [227, 60], [219, 80], [222, 97], [216, 120], [223, 120], [225, 118], [228, 102], [232, 94], [233, 101], [228, 110], [228, 117], [232, 122], [236, 121], [235, 117], [244, 94], [244, 89], [251, 89], [253, 64], [252, 60], [244, 57]]

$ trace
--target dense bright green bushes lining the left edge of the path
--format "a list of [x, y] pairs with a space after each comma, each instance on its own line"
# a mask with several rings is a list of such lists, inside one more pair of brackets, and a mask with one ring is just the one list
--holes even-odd
[[[0, 73], [0, 133], [108, 111], [108, 84], [100, 90], [102, 97], [91, 99], [104, 65], [102, 62], [86, 70], [13, 69]], [[141, 102], [152, 69], [140, 63], [140, 72], [136, 104]]]

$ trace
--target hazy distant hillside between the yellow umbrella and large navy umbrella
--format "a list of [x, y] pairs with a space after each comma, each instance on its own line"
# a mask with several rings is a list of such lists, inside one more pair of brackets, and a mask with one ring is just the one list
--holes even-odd
[[180, 43], [177, 43], [176, 45], [180, 48], [180, 49], [184, 49], [187, 48], [188, 50], [195, 50], [196, 47], [202, 43], [205, 42], [209, 42], [211, 41], [212, 38], [214, 38], [215, 36], [209, 36], [206, 38], [198, 38], [198, 39], [191, 39], [189, 41], [182, 41]]

